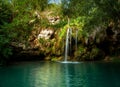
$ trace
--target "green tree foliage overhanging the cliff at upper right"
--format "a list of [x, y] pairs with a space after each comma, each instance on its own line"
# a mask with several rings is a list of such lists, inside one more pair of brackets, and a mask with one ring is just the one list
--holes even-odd
[[108, 26], [120, 20], [119, 0], [62, 0], [63, 14], [70, 18], [87, 17], [84, 29], [91, 32], [95, 26]]

